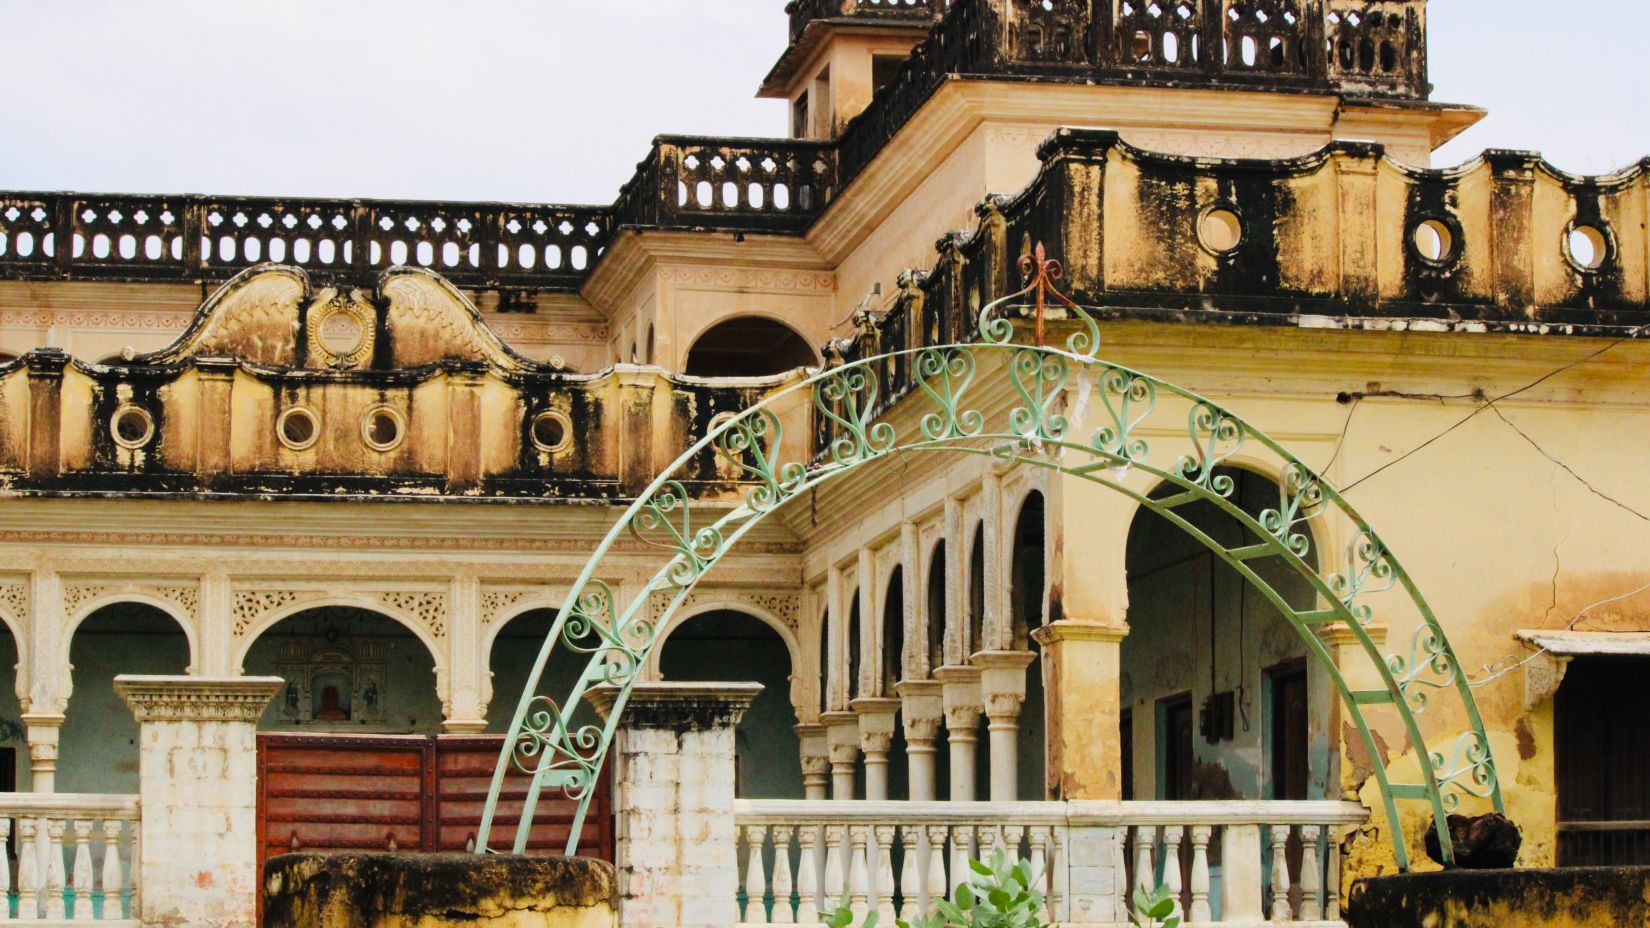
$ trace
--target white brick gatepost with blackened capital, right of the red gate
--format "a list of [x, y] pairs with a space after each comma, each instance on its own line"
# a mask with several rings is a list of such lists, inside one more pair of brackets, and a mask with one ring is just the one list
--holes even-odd
[[[615, 741], [619, 923], [739, 921], [734, 728], [761, 684], [635, 684]], [[589, 700], [606, 718], [615, 687]]]

